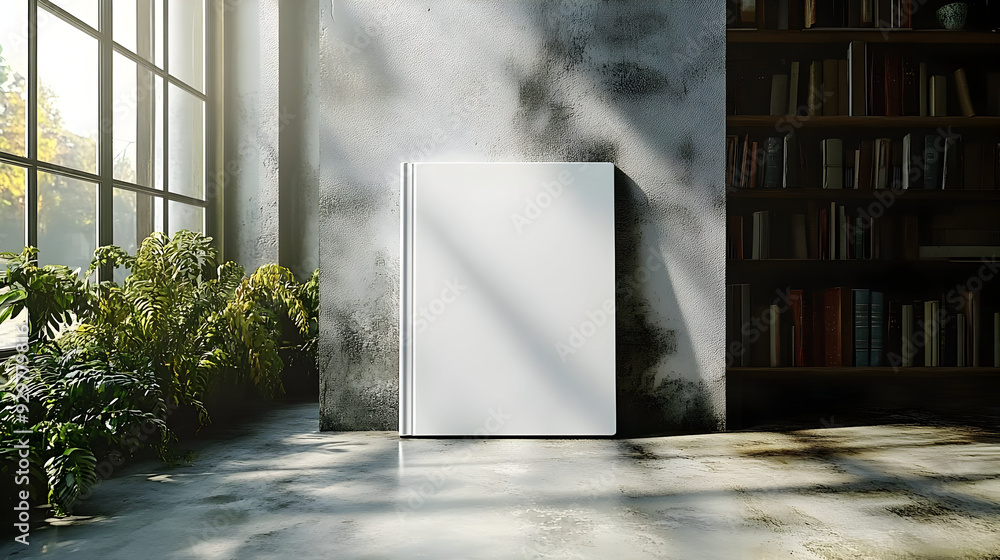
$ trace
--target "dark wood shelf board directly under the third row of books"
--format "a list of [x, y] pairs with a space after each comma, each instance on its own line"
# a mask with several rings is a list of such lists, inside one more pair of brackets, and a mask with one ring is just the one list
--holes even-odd
[[877, 200], [892, 196], [893, 202], [921, 200], [929, 202], [1000, 202], [1000, 191], [987, 190], [863, 190], [856, 189], [733, 189], [726, 191], [729, 200]]

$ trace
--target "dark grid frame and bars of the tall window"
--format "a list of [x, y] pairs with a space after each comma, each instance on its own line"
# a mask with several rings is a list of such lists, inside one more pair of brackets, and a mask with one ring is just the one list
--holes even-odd
[[[160, 68], [155, 61], [149, 61], [137, 53], [133, 53], [114, 41], [113, 33], [113, 1], [99, 0], [98, 29], [90, 27], [82, 20], [66, 11], [58, 4], [50, 0], [21, 0], [28, 3], [28, 76], [27, 78], [27, 146], [26, 155], [21, 156], [7, 152], [0, 152], [0, 163], [9, 163], [24, 167], [27, 170], [27, 182], [25, 185], [25, 220], [24, 239], [25, 245], [31, 247], [38, 246], [38, 173], [50, 172], [74, 179], [82, 179], [97, 185], [97, 239], [98, 247], [114, 244], [114, 191], [121, 189], [131, 191], [137, 195], [150, 196], [151, 204], [155, 198], [162, 199], [163, 208], [163, 230], [170, 231], [170, 202], [178, 202], [203, 209], [204, 212], [204, 233], [213, 238], [213, 243], [217, 249], [222, 250], [222, 194], [223, 194], [223, 164], [221, 162], [222, 150], [222, 9], [224, 0], [205, 0], [205, 13], [203, 15], [204, 44], [202, 56], [204, 57], [204, 92], [188, 85], [180, 78], [170, 73], [170, 48], [169, 48], [169, 10], [170, 2], [163, 3], [163, 67]], [[75, 29], [95, 38], [98, 41], [98, 122], [101, 123], [98, 129], [98, 168], [97, 173], [89, 173], [78, 169], [68, 168], [62, 165], [41, 161], [38, 159], [38, 9], [44, 8], [51, 14], [59, 17]], [[137, 49], [138, 50], [138, 49]], [[116, 180], [114, 178], [114, 144], [113, 144], [113, 112], [114, 112], [114, 79], [112, 76], [114, 55], [118, 54], [129, 61], [137, 64], [152, 73], [153, 81], [160, 77], [163, 83], [163, 115], [162, 129], [163, 142], [158, 154], [163, 161], [162, 190], [155, 186], [146, 187], [137, 183]], [[155, 58], [155, 57], [154, 57]], [[186, 93], [193, 95], [196, 99], [204, 103], [203, 121], [204, 137], [202, 138], [202, 148], [204, 154], [204, 198], [198, 199], [190, 196], [178, 194], [170, 190], [169, 184], [169, 153], [172, 139], [170, 137], [170, 86], [175, 86]], [[155, 107], [155, 105], [154, 105]], [[179, 137], [181, 142], [184, 141]], [[155, 185], [155, 182], [153, 183]], [[155, 227], [151, 228], [156, 231]], [[110, 267], [103, 267], [99, 271], [100, 280], [111, 280], [113, 271]]]

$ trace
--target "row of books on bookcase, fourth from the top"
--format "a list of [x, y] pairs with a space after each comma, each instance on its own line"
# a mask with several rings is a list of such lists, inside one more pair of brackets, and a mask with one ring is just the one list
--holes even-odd
[[[744, 236], [743, 216], [729, 216], [726, 256], [730, 260], [881, 258], [881, 220], [862, 212], [852, 214], [855, 213], [848, 212], [846, 206], [836, 203], [809, 214], [783, 215], [761, 210], [753, 213], [749, 237]], [[915, 243], [916, 228], [912, 224], [910, 228]]]

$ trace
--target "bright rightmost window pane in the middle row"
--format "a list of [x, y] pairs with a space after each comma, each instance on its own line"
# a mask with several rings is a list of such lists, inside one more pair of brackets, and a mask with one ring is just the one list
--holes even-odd
[[205, 102], [171, 84], [167, 185], [171, 192], [205, 196]]

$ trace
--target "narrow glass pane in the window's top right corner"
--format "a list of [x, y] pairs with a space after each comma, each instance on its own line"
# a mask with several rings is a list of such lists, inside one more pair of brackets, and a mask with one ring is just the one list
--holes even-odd
[[170, 2], [167, 12], [167, 49], [170, 51], [167, 70], [191, 87], [204, 91], [205, 2]]

